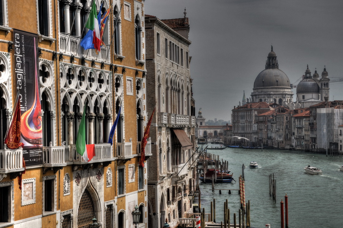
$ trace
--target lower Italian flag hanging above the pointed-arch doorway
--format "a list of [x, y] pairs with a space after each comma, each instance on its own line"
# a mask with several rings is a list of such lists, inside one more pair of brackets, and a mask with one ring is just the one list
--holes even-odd
[[83, 109], [81, 122], [79, 125], [78, 136], [76, 137], [76, 152], [80, 154], [85, 161], [90, 161], [95, 156], [94, 144], [86, 144], [86, 106]]

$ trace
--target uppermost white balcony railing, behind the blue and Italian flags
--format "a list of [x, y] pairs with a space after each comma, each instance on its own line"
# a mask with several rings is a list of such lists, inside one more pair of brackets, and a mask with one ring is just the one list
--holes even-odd
[[[98, 60], [106, 60], [109, 61], [109, 58], [107, 58], [107, 47], [102, 46], [99, 55], [96, 54], [95, 49], [88, 49], [84, 50], [82, 47], [79, 47], [80, 38], [76, 38], [73, 36], [69, 36], [66, 34], [60, 34], [60, 51], [66, 51], [69, 53], [72, 53], [73, 55], [78, 56], [87, 56], [88, 58], [97, 58]], [[68, 41], [69, 39], [69, 41]], [[78, 49], [79, 48], [79, 49]], [[78, 51], [76, 53], [76, 50]]]

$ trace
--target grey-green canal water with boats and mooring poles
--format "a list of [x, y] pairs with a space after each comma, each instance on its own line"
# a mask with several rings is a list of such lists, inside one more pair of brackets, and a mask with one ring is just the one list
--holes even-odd
[[[206, 145], [205, 145], [206, 146]], [[204, 146], [204, 147], [205, 147]], [[211, 147], [211, 145], [209, 145]], [[237, 182], [216, 183], [215, 189], [239, 189], [239, 175], [245, 165], [245, 198], [250, 200], [250, 221], [252, 227], [281, 227], [281, 199], [288, 196], [289, 228], [326, 228], [343, 227], [343, 158], [328, 157], [326, 154], [310, 152], [225, 148], [208, 150], [208, 153], [220, 155], [227, 160], [229, 170]], [[258, 168], [249, 168], [250, 161], [256, 161]], [[323, 171], [323, 175], [309, 175], [303, 169], [314, 166]], [[276, 179], [276, 203], [269, 196], [269, 175], [274, 173]], [[216, 222], [224, 219], [224, 202], [227, 199], [230, 209], [230, 220], [238, 210], [240, 199], [238, 191], [212, 192], [211, 183], [199, 182], [201, 190], [201, 207], [205, 213], [211, 212], [211, 201], [216, 199]], [[197, 202], [194, 202], [197, 203]]]

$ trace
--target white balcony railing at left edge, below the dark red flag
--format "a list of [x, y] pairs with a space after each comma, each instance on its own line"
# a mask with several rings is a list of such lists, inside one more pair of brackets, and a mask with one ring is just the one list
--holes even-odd
[[0, 161], [0, 173], [24, 171], [22, 148], [0, 150]]

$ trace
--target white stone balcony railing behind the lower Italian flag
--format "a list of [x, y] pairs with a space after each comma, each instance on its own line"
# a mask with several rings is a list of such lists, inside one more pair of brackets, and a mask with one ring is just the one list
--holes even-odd
[[89, 164], [104, 161], [114, 160], [113, 149], [110, 143], [100, 143], [94, 145], [95, 156], [90, 161], [85, 161], [82, 156], [76, 153], [75, 145], [70, 146], [70, 151], [73, 153], [71, 160], [74, 164]]

